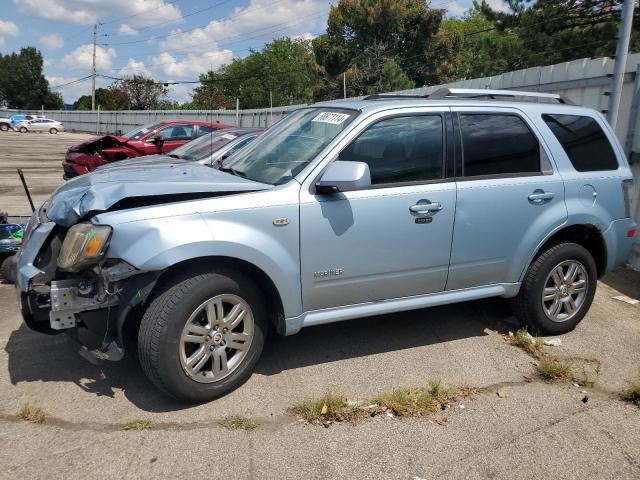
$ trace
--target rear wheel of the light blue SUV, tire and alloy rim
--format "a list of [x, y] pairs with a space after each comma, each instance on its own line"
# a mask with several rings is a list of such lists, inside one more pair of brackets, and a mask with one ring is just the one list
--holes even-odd
[[570, 332], [589, 310], [597, 281], [596, 263], [587, 249], [571, 242], [552, 244], [529, 266], [513, 311], [536, 333]]

